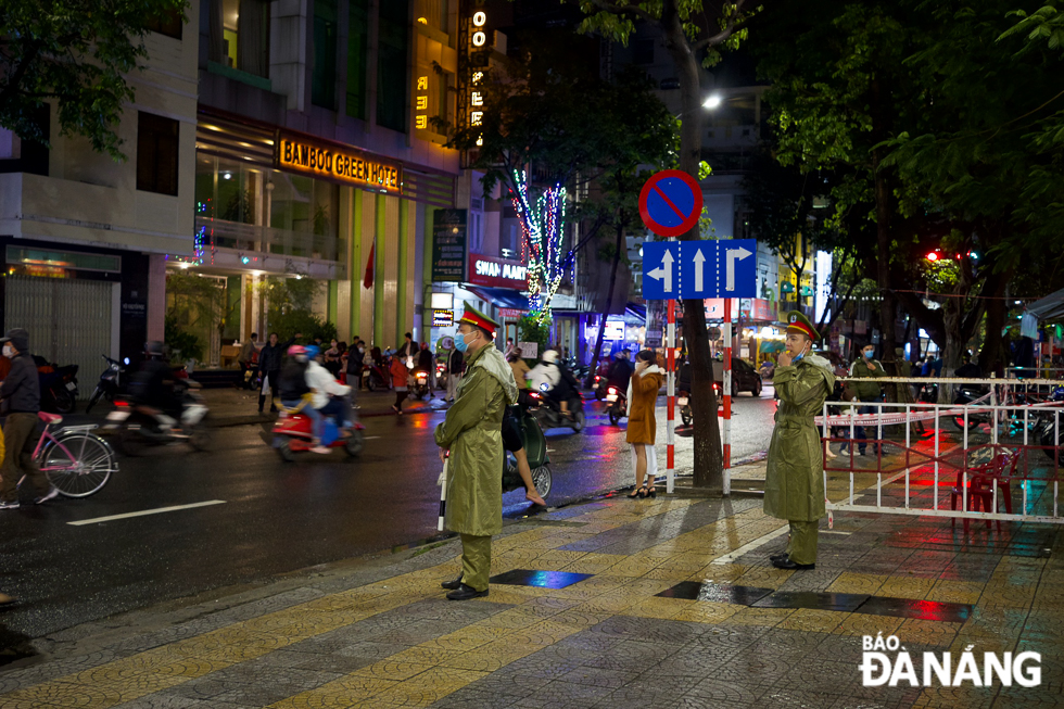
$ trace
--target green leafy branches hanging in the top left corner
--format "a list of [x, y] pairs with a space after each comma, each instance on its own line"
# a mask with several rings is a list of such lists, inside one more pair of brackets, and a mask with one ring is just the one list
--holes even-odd
[[148, 59], [147, 26], [187, 0], [9, 0], [0, 3], [0, 126], [48, 142], [34, 122], [45, 101], [59, 106], [60, 134], [125, 160], [115, 127], [134, 101], [127, 75]]

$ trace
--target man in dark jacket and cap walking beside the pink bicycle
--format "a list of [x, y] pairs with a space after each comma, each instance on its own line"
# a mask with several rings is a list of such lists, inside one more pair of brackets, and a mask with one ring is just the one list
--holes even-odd
[[8, 407], [8, 420], [3, 427], [7, 452], [3, 456], [3, 476], [0, 484], [0, 509], [18, 507], [18, 480], [26, 476], [37, 491], [34, 503], [39, 505], [59, 494], [34, 461], [37, 442], [37, 413], [40, 410], [40, 384], [37, 366], [29, 354], [29, 333], [22, 328], [8, 330], [0, 339], [3, 356], [11, 359], [11, 371], [0, 384], [0, 398]]

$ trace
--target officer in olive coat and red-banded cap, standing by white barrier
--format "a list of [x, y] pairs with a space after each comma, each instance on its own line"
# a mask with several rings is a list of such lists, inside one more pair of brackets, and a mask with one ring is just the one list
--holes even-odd
[[787, 349], [773, 377], [780, 408], [769, 444], [764, 514], [790, 522], [783, 554], [770, 557], [777, 569], [816, 568], [816, 536], [824, 507], [824, 452], [813, 417], [835, 388], [827, 359], [811, 352], [820, 333], [798, 311], [787, 314]]

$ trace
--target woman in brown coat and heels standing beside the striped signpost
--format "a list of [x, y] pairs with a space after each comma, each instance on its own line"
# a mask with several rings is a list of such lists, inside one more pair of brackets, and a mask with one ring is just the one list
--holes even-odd
[[654, 407], [658, 392], [664, 383], [664, 371], [658, 366], [658, 356], [653, 350], [643, 350], [635, 355], [635, 370], [628, 384], [628, 441], [632, 452], [632, 471], [635, 473], [635, 490], [630, 498], [656, 497], [654, 479], [658, 473], [658, 456], [654, 444], [658, 422]]

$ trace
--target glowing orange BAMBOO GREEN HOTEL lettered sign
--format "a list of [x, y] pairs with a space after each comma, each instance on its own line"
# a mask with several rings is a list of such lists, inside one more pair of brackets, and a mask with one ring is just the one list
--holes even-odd
[[278, 168], [356, 187], [402, 192], [403, 170], [398, 165], [373, 160], [357, 150], [315, 143], [282, 132], [274, 144], [274, 165]]

